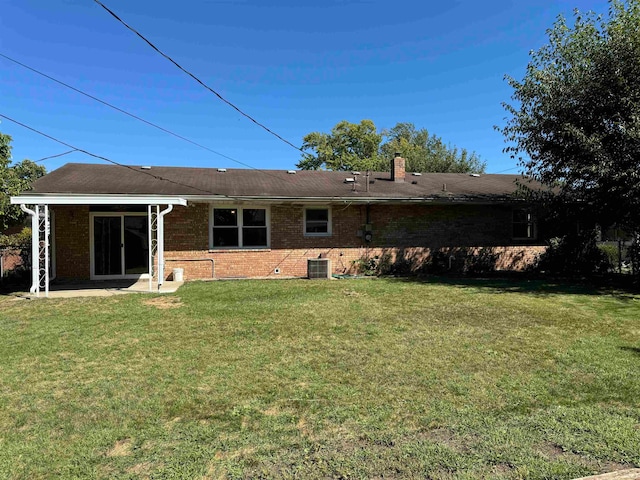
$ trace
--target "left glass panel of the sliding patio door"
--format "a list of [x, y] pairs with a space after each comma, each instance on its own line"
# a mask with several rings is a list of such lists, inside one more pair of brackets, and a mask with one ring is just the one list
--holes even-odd
[[95, 275], [122, 275], [122, 218], [93, 217]]

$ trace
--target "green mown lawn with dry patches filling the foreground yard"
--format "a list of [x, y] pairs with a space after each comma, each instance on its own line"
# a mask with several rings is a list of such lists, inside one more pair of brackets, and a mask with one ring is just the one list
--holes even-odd
[[541, 282], [0, 297], [0, 478], [640, 467], [640, 296]]

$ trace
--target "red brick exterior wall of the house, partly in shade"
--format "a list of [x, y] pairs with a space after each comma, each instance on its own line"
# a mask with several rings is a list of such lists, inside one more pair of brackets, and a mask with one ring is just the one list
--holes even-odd
[[[89, 278], [89, 207], [53, 210], [58, 277]], [[372, 205], [370, 244], [357, 235], [367, 221], [365, 206], [334, 205], [331, 212], [332, 235], [309, 237], [304, 236], [302, 205], [274, 205], [270, 248], [210, 250], [209, 205], [176, 206], [165, 217], [166, 277], [180, 267], [187, 280], [211, 278], [211, 259], [216, 278], [306, 276], [307, 259], [320, 256], [331, 259], [334, 273], [350, 273], [353, 262], [363, 257], [424, 260], [444, 247], [461, 247], [464, 255], [490, 247], [498, 268], [520, 269], [544, 250], [536, 242], [511, 240], [509, 206]]]

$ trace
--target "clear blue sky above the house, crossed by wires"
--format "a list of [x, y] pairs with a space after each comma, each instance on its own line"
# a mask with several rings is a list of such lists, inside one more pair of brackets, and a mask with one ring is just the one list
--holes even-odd
[[[239, 108], [296, 145], [341, 120], [412, 122], [475, 151], [502, 153], [511, 89], [545, 30], [604, 0], [104, 0], [131, 26]], [[0, 2], [0, 53], [261, 169], [300, 152], [197, 85], [91, 0]], [[179, 8], [177, 8], [179, 7]], [[241, 168], [0, 58], [0, 113], [126, 164]], [[68, 148], [7, 120], [14, 161]], [[43, 162], [97, 162], [81, 153]], [[510, 172], [517, 171], [516, 169]]]

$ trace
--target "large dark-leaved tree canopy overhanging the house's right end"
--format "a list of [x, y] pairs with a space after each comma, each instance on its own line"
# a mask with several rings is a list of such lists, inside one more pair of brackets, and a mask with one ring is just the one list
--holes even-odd
[[640, 228], [640, 0], [574, 12], [548, 30], [501, 128], [525, 174], [603, 226]]

